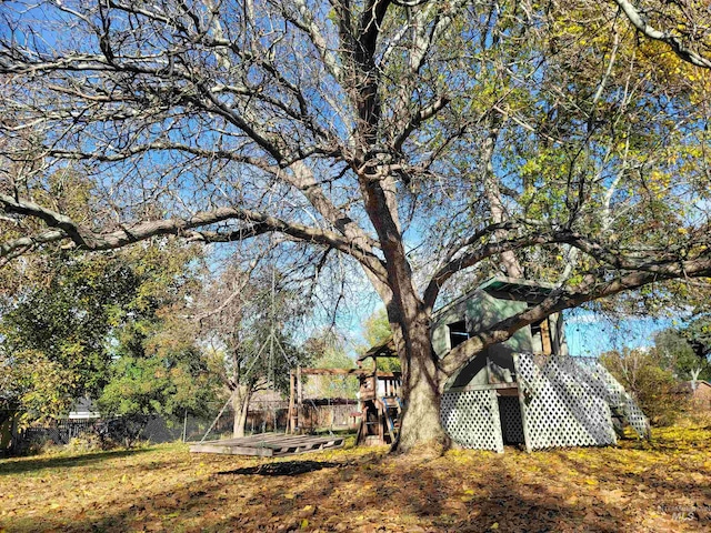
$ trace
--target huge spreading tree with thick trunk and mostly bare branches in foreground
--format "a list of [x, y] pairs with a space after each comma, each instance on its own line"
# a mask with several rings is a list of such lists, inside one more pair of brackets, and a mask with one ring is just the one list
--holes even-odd
[[[488, 345], [711, 275], [704, 52], [640, 28], [622, 0], [2, 10], [2, 258], [161, 234], [280, 235], [318, 252], [309, 275], [346, 258], [385, 304], [402, 450], [447, 445], [440, 394]], [[71, 215], [58, 199], [78, 174], [91, 209]], [[559, 288], [438, 359], [442, 291], [499, 270]]]

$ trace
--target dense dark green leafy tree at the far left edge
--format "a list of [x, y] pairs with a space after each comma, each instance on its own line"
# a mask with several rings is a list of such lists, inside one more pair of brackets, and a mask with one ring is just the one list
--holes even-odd
[[22, 406], [59, 416], [107, 383], [111, 314], [129, 304], [140, 281], [126, 263], [108, 258], [53, 261], [46, 275], [46, 284], [6, 308], [0, 329]]

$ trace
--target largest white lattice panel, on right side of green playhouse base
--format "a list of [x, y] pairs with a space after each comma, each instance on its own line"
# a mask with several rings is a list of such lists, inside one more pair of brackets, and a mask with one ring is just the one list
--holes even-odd
[[615, 442], [603, 380], [569, 356], [518, 354], [515, 363], [530, 449]]

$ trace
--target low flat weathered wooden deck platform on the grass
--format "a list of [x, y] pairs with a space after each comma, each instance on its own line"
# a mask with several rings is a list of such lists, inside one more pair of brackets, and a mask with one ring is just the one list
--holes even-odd
[[224, 453], [229, 455], [259, 455], [280, 457], [298, 453], [318, 452], [331, 447], [341, 447], [343, 436], [286, 435], [283, 433], [262, 433], [241, 439], [196, 442], [190, 444], [193, 453]]

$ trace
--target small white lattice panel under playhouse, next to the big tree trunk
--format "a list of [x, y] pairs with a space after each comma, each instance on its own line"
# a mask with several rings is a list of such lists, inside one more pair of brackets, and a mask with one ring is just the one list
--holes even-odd
[[503, 451], [494, 391], [445, 392], [440, 416], [444, 431], [461, 446]]

